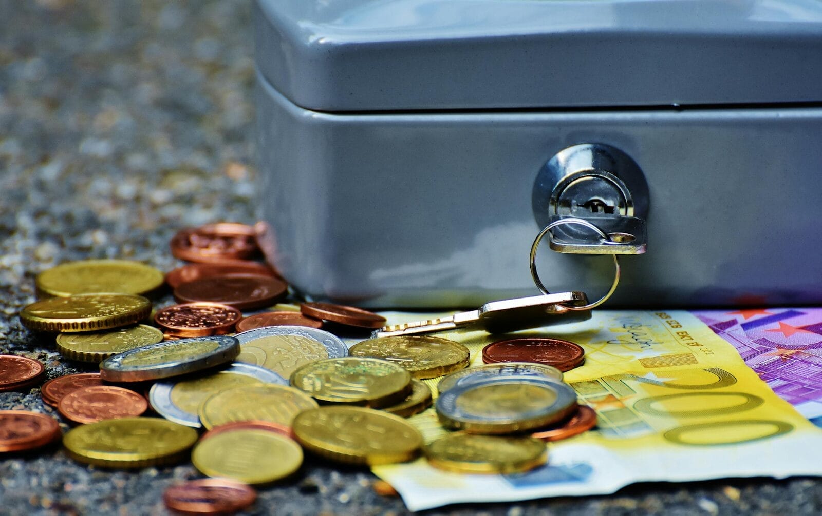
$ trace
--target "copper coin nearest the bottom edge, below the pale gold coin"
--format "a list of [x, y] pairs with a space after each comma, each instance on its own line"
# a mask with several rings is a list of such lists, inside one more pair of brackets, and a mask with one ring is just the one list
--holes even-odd
[[180, 514], [234, 514], [254, 500], [253, 487], [227, 478], [190, 480], [163, 493], [165, 506]]

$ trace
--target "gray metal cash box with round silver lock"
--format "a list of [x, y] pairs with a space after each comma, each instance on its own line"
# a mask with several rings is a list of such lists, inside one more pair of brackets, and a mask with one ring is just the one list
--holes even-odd
[[[259, 0], [256, 66], [267, 256], [312, 298], [534, 295], [576, 216], [647, 231], [612, 306], [822, 302], [822, 2]], [[543, 247], [549, 290], [610, 284]]]

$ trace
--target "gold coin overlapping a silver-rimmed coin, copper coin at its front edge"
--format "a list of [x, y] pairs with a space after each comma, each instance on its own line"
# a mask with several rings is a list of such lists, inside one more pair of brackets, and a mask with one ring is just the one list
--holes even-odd
[[293, 387], [261, 384], [222, 390], [206, 398], [198, 414], [210, 430], [227, 422], [270, 421], [288, 427], [303, 410], [319, 405], [311, 396]]

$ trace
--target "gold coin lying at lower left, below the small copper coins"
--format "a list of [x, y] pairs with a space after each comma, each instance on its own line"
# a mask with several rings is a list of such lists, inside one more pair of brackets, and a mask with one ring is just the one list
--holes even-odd
[[107, 468], [144, 468], [187, 459], [193, 428], [160, 418], [106, 419], [70, 430], [62, 445], [72, 459]]

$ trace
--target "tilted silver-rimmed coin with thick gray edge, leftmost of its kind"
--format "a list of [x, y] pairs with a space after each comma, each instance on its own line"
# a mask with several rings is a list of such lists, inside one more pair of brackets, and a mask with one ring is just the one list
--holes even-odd
[[240, 352], [231, 336], [167, 340], [115, 354], [100, 363], [105, 381], [144, 381], [176, 377], [230, 363]]

